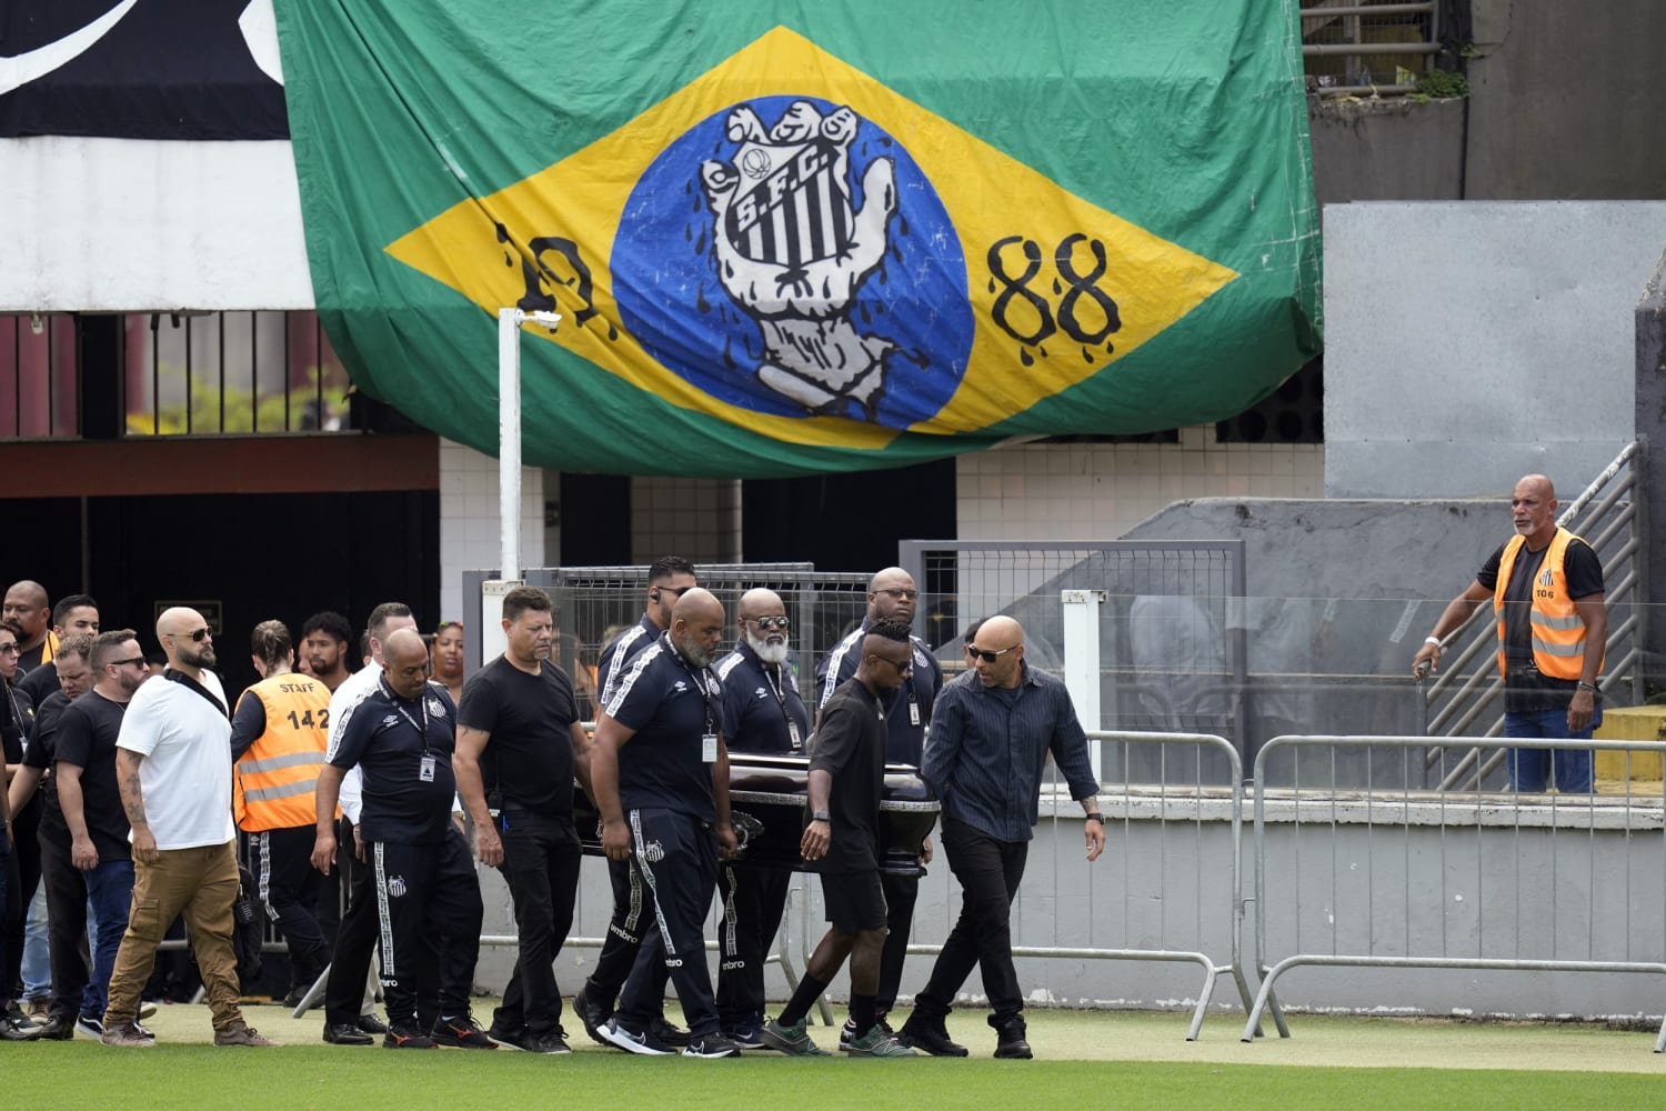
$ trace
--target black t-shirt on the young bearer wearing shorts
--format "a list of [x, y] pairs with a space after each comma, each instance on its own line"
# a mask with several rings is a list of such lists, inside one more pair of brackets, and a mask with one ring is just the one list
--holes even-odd
[[878, 700], [850, 680], [821, 706], [810, 770], [833, 776], [828, 816], [833, 836], [820, 871], [880, 866], [880, 798], [885, 793], [885, 718]]

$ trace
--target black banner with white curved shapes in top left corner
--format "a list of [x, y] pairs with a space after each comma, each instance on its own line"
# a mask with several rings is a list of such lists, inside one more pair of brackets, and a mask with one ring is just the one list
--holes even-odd
[[0, 137], [288, 138], [270, 7], [0, 3]]

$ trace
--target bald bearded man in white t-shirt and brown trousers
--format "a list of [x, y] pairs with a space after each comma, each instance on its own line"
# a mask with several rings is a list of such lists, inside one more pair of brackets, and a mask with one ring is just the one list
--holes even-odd
[[152, 1044], [135, 1024], [138, 994], [157, 944], [183, 914], [213, 1013], [213, 1043], [272, 1046], [237, 1006], [232, 720], [220, 678], [208, 670], [213, 638], [203, 616], [183, 606], [157, 618], [157, 638], [168, 670], [133, 695], [115, 743], [117, 788], [133, 828], [133, 913], [110, 974], [103, 1043]]

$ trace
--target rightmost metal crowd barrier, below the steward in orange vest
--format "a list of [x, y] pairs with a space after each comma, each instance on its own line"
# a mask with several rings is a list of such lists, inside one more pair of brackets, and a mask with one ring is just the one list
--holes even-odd
[[[1473, 745], [1666, 756], [1663, 741], [1433, 740], [1459, 750]], [[1429, 743], [1431, 738], [1418, 736], [1278, 736], [1256, 755], [1254, 946], [1261, 988], [1248, 1013], [1245, 1041], [1254, 1038], [1264, 1009], [1271, 1009], [1279, 1036], [1289, 1036], [1274, 988], [1279, 976], [1299, 966], [1666, 974], [1666, 934], [1659, 929], [1666, 904], [1666, 786], [1651, 785], [1659, 788], [1658, 796], [1634, 795], [1629, 786], [1623, 795], [1413, 788], [1419, 776], [1409, 770]], [[1323, 776], [1323, 758], [1303, 755], [1314, 748], [1326, 750], [1333, 761], [1346, 750], [1398, 750], [1408, 771], [1391, 776], [1393, 786], [1379, 791], [1369, 785], [1323, 793], [1299, 783], [1266, 786], [1269, 761], [1284, 753], [1291, 760], [1301, 756], [1298, 768], [1304, 775]], [[1281, 848], [1294, 854], [1293, 868], [1269, 866], [1274, 825], [1291, 831]], [[1386, 849], [1378, 844], [1383, 826], [1393, 828]], [[1338, 848], [1351, 836], [1346, 828], [1359, 830], [1364, 838], [1363, 868], [1358, 853]], [[1318, 834], [1324, 844], [1309, 844], [1303, 853], [1304, 843]], [[1598, 856], [1604, 834], [1623, 839], [1624, 848], [1624, 858], [1609, 861], [1608, 869]], [[1438, 846], [1423, 844], [1428, 839]], [[1653, 844], [1656, 851], [1639, 853], [1639, 844]], [[1434, 873], [1424, 849], [1434, 848], [1439, 881], [1429, 883]], [[1421, 861], [1421, 869], [1414, 861]], [[1558, 873], [1558, 863], [1564, 861], [1578, 873], [1569, 881]], [[1609, 876], [1621, 891], [1604, 888]], [[1271, 964], [1276, 939], [1268, 923], [1269, 906], [1293, 916], [1283, 933], [1294, 934], [1289, 948], [1296, 949]], [[1391, 913], [1381, 913], [1383, 908]], [[1304, 948], [1308, 938], [1328, 944]], [[1633, 953], [1634, 946], [1648, 951]], [[1574, 948], [1583, 948], [1583, 954], [1573, 956]], [[1666, 1023], [1654, 1043], [1656, 1053], [1663, 1049]]]

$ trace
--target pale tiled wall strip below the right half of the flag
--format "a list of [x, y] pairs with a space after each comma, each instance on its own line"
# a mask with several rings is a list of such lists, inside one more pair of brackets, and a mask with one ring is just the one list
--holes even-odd
[[1215, 426], [1180, 443], [1050, 443], [963, 455], [955, 511], [961, 540], [1115, 540], [1188, 498], [1323, 498], [1324, 446], [1216, 443]]

